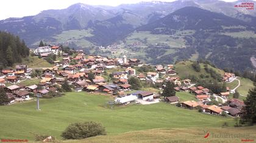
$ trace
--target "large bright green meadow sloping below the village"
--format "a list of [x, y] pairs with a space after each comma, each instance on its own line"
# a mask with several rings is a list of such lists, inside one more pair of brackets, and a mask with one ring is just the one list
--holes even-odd
[[164, 102], [110, 109], [105, 104], [110, 100], [110, 96], [80, 92], [40, 99], [41, 111], [35, 110], [35, 101], [2, 106], [0, 138], [34, 140], [32, 133], [37, 133], [61, 139], [62, 131], [69, 124], [82, 121], [101, 122], [108, 135], [153, 128], [221, 127], [224, 122], [233, 127], [234, 124], [232, 118], [206, 115]]

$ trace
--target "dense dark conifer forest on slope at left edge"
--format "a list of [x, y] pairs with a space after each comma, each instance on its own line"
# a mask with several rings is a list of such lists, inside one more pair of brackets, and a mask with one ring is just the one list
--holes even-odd
[[29, 48], [18, 36], [0, 32], [0, 68], [11, 67], [29, 56]]

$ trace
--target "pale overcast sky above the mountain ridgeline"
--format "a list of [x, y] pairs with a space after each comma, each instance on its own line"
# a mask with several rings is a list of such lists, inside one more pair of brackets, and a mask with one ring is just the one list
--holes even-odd
[[[112, 5], [132, 4], [142, 0], [1, 0], [0, 3], [0, 19], [10, 17], [20, 18], [23, 16], [37, 15], [42, 10], [63, 9], [69, 5], [76, 3], [84, 3], [90, 5]], [[152, 1], [152, 0], [143, 0]], [[160, 0], [163, 1], [163, 0]], [[175, 0], [165, 0], [175, 1]], [[207, 0], [205, 0], [207, 1]], [[233, 0], [222, 0], [232, 2]]]

